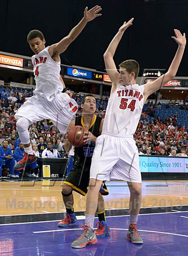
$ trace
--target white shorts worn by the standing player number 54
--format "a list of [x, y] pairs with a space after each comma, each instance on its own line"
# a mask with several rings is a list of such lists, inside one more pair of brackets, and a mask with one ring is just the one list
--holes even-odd
[[90, 179], [141, 183], [138, 149], [132, 135], [102, 134], [96, 140]]

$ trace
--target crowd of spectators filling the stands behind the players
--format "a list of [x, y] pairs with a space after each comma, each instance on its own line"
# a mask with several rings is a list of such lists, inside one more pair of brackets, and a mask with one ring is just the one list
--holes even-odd
[[[24, 156], [23, 145], [20, 144], [20, 138], [17, 134], [16, 120], [14, 118], [18, 108], [25, 102], [27, 97], [33, 95], [32, 90], [22, 90], [16, 88], [0, 87], [0, 145], [3, 141], [8, 141], [8, 148], [11, 149], [14, 160], [17, 151]], [[81, 115], [81, 94], [73, 94], [79, 109], [78, 115]], [[96, 114], [105, 117], [108, 98], [96, 99]], [[172, 105], [178, 105], [179, 108], [188, 108], [188, 98], [185, 101], [170, 101], [167, 108]], [[140, 155], [163, 155], [163, 156], [188, 156], [188, 134], [184, 126], [177, 125], [177, 113], [172, 117], [166, 117], [161, 121], [160, 117], [154, 118], [155, 108], [161, 108], [161, 103], [149, 101], [148, 108], [142, 112], [137, 131], [134, 135], [136, 145]], [[67, 156], [64, 151], [64, 135], [60, 134], [51, 120], [44, 119], [33, 123], [29, 127], [30, 141], [33, 145], [35, 154], [39, 157], [49, 157], [51, 154], [56, 157]], [[47, 148], [51, 153], [43, 153]], [[15, 152], [14, 152], [15, 151]], [[56, 153], [55, 153], [56, 152]], [[21, 157], [21, 154], [20, 154]]]

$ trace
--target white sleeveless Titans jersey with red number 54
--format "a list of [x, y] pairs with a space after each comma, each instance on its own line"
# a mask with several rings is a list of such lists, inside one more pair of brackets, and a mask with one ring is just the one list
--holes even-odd
[[118, 85], [110, 96], [102, 134], [134, 135], [144, 103], [144, 85]]

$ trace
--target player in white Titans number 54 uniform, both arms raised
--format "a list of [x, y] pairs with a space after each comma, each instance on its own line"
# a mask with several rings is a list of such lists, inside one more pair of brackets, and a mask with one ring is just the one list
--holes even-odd
[[139, 157], [133, 135], [141, 116], [142, 107], [148, 96], [159, 90], [176, 74], [186, 45], [185, 33], [182, 36], [175, 29], [172, 38], [178, 49], [166, 74], [153, 82], [137, 85], [139, 65], [135, 60], [126, 60], [117, 71], [113, 56], [124, 34], [132, 25], [133, 18], [124, 22], [104, 54], [107, 73], [111, 79], [111, 95], [107, 105], [102, 134], [96, 140], [90, 169], [90, 186], [87, 193], [85, 230], [72, 247], [85, 247], [97, 243], [94, 234], [94, 213], [97, 209], [98, 191], [103, 180], [125, 180], [130, 190], [130, 226], [127, 237], [132, 243], [143, 243], [137, 231], [137, 220], [141, 205], [141, 172]]

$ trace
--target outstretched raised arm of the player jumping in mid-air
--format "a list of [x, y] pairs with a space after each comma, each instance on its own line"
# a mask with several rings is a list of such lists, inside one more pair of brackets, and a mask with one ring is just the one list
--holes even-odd
[[88, 11], [88, 7], [85, 8], [84, 17], [81, 21], [74, 27], [68, 36], [65, 36], [59, 43], [52, 45], [49, 49], [49, 53], [51, 56], [60, 55], [62, 54], [84, 29], [87, 22], [93, 20], [94, 18], [101, 16], [102, 14], [99, 13], [102, 8], [98, 5], [94, 6], [92, 9]]

